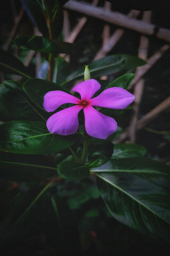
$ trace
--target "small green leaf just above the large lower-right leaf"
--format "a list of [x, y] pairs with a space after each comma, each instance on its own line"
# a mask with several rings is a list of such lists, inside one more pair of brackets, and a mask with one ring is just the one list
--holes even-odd
[[141, 145], [131, 143], [115, 144], [112, 159], [145, 156], [146, 153], [146, 148]]

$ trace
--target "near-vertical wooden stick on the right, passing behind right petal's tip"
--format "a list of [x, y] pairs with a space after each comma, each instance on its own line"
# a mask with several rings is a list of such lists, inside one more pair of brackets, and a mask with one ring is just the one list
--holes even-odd
[[[151, 11], [143, 12], [142, 20], [149, 23], [150, 19], [151, 19]], [[146, 36], [142, 35], [140, 39], [138, 57], [143, 60], [147, 60], [148, 44], [149, 44], [149, 39]], [[139, 67], [137, 69], [137, 74], [140, 73], [140, 70], [141, 69]], [[138, 114], [139, 114], [140, 102], [143, 94], [143, 88], [144, 88], [144, 80], [140, 79], [140, 81], [134, 86], [135, 99], [133, 102], [133, 115], [132, 115], [131, 123], [129, 126], [129, 139], [130, 139], [130, 142], [132, 143], [135, 142], [135, 138], [136, 138], [135, 135], [137, 131]]]

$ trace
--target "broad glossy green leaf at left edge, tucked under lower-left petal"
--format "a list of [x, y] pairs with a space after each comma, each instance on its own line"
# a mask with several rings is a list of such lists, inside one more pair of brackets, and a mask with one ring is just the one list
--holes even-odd
[[51, 154], [74, 144], [76, 135], [49, 133], [46, 124], [10, 121], [0, 125], [0, 149], [18, 154]]

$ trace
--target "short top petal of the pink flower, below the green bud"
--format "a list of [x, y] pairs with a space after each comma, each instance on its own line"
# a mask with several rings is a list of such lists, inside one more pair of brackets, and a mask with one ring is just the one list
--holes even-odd
[[89, 79], [75, 85], [72, 91], [80, 93], [82, 100], [89, 100], [98, 90], [100, 90], [100, 87], [101, 85], [95, 79]]

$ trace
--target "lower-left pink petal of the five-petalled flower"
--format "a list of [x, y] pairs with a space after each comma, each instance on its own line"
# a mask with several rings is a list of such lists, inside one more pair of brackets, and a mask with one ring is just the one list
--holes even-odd
[[78, 114], [82, 106], [76, 105], [58, 111], [47, 120], [47, 129], [50, 133], [70, 135], [77, 132], [79, 127]]

